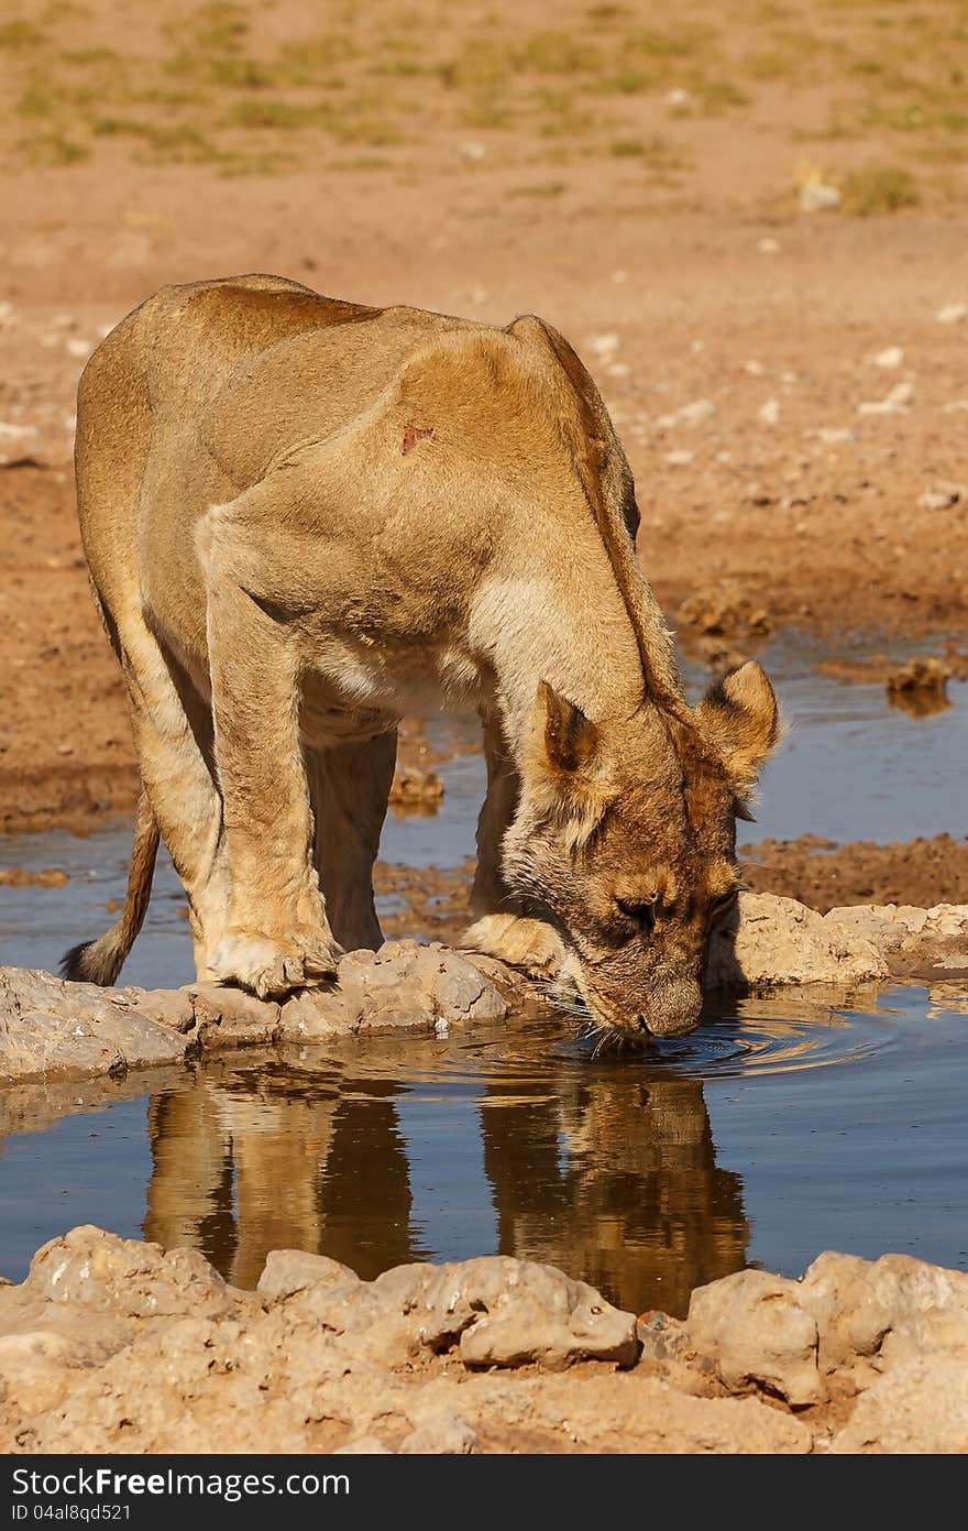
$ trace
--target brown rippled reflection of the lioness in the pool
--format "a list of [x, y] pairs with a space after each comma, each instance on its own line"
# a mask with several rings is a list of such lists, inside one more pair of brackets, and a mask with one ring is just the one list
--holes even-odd
[[[489, 1067], [486, 1050], [456, 1058], [460, 1078], [440, 1072], [439, 1044], [411, 1040], [312, 1070], [278, 1059], [199, 1070], [193, 1085], [151, 1101], [145, 1237], [202, 1249], [242, 1286], [255, 1285], [271, 1249], [327, 1254], [372, 1278], [473, 1243], [561, 1266], [621, 1307], [671, 1314], [685, 1312], [694, 1286], [746, 1263], [742, 1182], [716, 1164], [702, 1081], [589, 1067], [541, 1046], [511, 1066]], [[414, 1145], [408, 1102], [422, 1095], [428, 1136]], [[445, 1105], [439, 1121], [434, 1101]], [[421, 1154], [425, 1179], [454, 1153], [457, 1131], [462, 1153], [466, 1134], [480, 1134], [495, 1234], [468, 1240], [480, 1202], [471, 1174], [466, 1206], [451, 1196], [434, 1213], [434, 1228], [453, 1236], [436, 1248], [410, 1160]]]

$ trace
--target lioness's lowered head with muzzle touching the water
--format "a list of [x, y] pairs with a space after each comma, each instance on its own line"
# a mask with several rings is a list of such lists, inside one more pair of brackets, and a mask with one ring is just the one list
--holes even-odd
[[694, 709], [596, 723], [538, 687], [505, 876], [561, 934], [603, 1033], [699, 1024], [710, 926], [739, 886], [736, 818], [777, 735], [755, 661]]

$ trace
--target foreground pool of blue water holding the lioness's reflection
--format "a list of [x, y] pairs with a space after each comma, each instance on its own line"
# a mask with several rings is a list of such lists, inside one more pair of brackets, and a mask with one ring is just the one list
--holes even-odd
[[500, 1252], [677, 1315], [824, 1248], [966, 1269], [966, 1041], [968, 989], [908, 986], [749, 998], [621, 1059], [549, 1020], [23, 1087], [6, 1122], [0, 1098], [0, 1274], [83, 1222], [242, 1286], [277, 1248], [364, 1277]]

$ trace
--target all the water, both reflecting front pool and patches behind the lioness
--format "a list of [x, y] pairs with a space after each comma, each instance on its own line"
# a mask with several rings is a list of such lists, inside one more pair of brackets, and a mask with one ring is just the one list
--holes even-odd
[[[965, 687], [914, 720], [881, 686], [818, 675], [818, 657], [789, 638], [765, 655], [794, 727], [751, 837], [963, 834]], [[473, 851], [483, 761], [439, 770], [440, 813], [391, 818], [387, 860]], [[128, 844], [124, 828], [0, 841], [0, 865], [67, 874], [0, 890], [0, 963], [50, 969], [102, 929]], [[162, 865], [127, 981], [191, 978], [180, 902]], [[364, 1277], [514, 1254], [636, 1312], [684, 1314], [696, 1285], [748, 1265], [795, 1275], [824, 1248], [968, 1269], [966, 1010], [956, 983], [850, 1003], [780, 991], [618, 1059], [593, 1059], [572, 1023], [517, 1018], [0, 1092], [0, 1274], [21, 1278], [81, 1222], [194, 1246], [243, 1286], [274, 1248]]]

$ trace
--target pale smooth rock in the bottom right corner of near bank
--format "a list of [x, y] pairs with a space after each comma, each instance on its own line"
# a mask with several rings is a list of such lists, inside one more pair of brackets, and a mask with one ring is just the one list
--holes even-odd
[[931, 1355], [879, 1378], [833, 1436], [835, 1454], [968, 1451], [968, 1358]]

